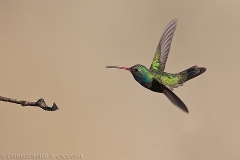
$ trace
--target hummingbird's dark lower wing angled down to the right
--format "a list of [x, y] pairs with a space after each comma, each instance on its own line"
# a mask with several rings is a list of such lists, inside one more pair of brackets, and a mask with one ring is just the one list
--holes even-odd
[[168, 89], [165, 85], [160, 83], [158, 80], [153, 79], [152, 84], [156, 87], [159, 88], [160, 92], [162, 92], [165, 96], [168, 97], [168, 99], [177, 107], [181, 108], [183, 111], [188, 113], [187, 106], [183, 103], [183, 101], [176, 95], [174, 94], [170, 89]]

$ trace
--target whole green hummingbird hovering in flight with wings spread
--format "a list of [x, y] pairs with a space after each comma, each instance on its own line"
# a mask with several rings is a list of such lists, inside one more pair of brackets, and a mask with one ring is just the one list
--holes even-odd
[[164, 72], [176, 27], [177, 19], [172, 20], [166, 26], [149, 69], [141, 64], [136, 64], [130, 68], [118, 66], [106, 66], [106, 68], [118, 68], [130, 71], [134, 79], [143, 87], [153, 92], [163, 93], [174, 105], [188, 113], [187, 106], [171, 90], [173, 90], [173, 88], [177, 88], [178, 86], [182, 86], [186, 81], [204, 73], [206, 68], [193, 66], [175, 74]]

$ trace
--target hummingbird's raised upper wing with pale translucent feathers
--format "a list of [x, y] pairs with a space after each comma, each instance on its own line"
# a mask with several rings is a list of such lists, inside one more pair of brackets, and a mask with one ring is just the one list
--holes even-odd
[[150, 69], [164, 71], [176, 27], [177, 19], [174, 19], [164, 29]]

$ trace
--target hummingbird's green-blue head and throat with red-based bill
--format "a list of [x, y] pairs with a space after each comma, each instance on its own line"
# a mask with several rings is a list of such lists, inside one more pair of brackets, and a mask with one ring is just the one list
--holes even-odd
[[107, 68], [118, 68], [118, 69], [124, 69], [127, 71], [130, 71], [134, 77], [134, 79], [143, 85], [144, 87], [148, 88], [148, 84], [150, 82], [150, 72], [149, 70], [141, 65], [141, 64], [136, 64], [130, 68], [127, 67], [118, 67], [118, 66], [106, 66]]

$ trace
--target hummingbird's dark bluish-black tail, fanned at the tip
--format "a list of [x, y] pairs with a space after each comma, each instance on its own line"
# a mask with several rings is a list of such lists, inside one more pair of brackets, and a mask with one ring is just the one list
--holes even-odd
[[185, 71], [180, 72], [179, 74], [185, 79], [185, 81], [188, 81], [190, 79], [193, 79], [200, 74], [204, 73], [207, 69], [205, 67], [198, 67], [198, 66], [192, 66]]

